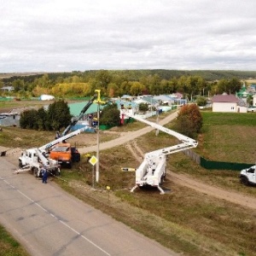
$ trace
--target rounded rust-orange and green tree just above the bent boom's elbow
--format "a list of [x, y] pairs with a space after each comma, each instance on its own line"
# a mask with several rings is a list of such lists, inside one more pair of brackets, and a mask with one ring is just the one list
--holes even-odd
[[202, 116], [195, 104], [184, 105], [177, 115], [177, 130], [188, 137], [196, 137], [201, 131]]

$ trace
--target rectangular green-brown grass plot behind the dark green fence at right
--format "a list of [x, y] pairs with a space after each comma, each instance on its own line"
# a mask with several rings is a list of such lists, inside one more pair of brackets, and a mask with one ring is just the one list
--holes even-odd
[[255, 113], [202, 113], [197, 151], [209, 160], [253, 163], [256, 160]]

